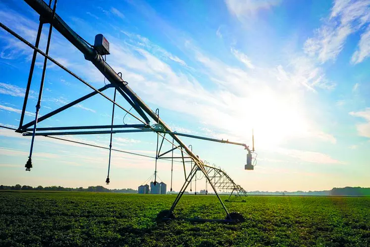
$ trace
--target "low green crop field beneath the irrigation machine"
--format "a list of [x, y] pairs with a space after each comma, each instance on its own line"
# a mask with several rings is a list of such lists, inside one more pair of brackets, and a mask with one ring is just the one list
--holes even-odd
[[[225, 199], [226, 197], [223, 197]], [[174, 195], [1, 192], [0, 246], [370, 246], [370, 198], [248, 196], [244, 223], [157, 224]], [[224, 218], [213, 195], [184, 195], [176, 216]]]

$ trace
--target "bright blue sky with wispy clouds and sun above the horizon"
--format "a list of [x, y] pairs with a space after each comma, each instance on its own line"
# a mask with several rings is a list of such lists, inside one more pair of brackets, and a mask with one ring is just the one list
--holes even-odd
[[[89, 43], [104, 34], [106, 61], [172, 130], [252, 145], [254, 129], [254, 171], [244, 170], [240, 146], [181, 138], [247, 191], [370, 187], [369, 0], [59, 0], [56, 13]], [[1, 23], [33, 44], [38, 20], [23, 1], [0, 2]], [[0, 125], [19, 125], [32, 53], [0, 30]], [[50, 56], [94, 87], [107, 83], [55, 29]], [[35, 118], [42, 66], [39, 55], [25, 123]], [[49, 62], [40, 115], [90, 92]], [[110, 124], [111, 108], [98, 95], [38, 126]], [[138, 123], [124, 115], [116, 110], [114, 123]], [[66, 138], [109, 146], [109, 135]], [[112, 146], [153, 156], [156, 141], [155, 133], [121, 133]], [[29, 137], [0, 128], [0, 184], [136, 188], [155, 170], [153, 159], [112, 152], [106, 185], [108, 150], [37, 136], [26, 172], [29, 148]], [[171, 162], [158, 162], [167, 188], [170, 170]], [[173, 170], [179, 190], [182, 164]]]

